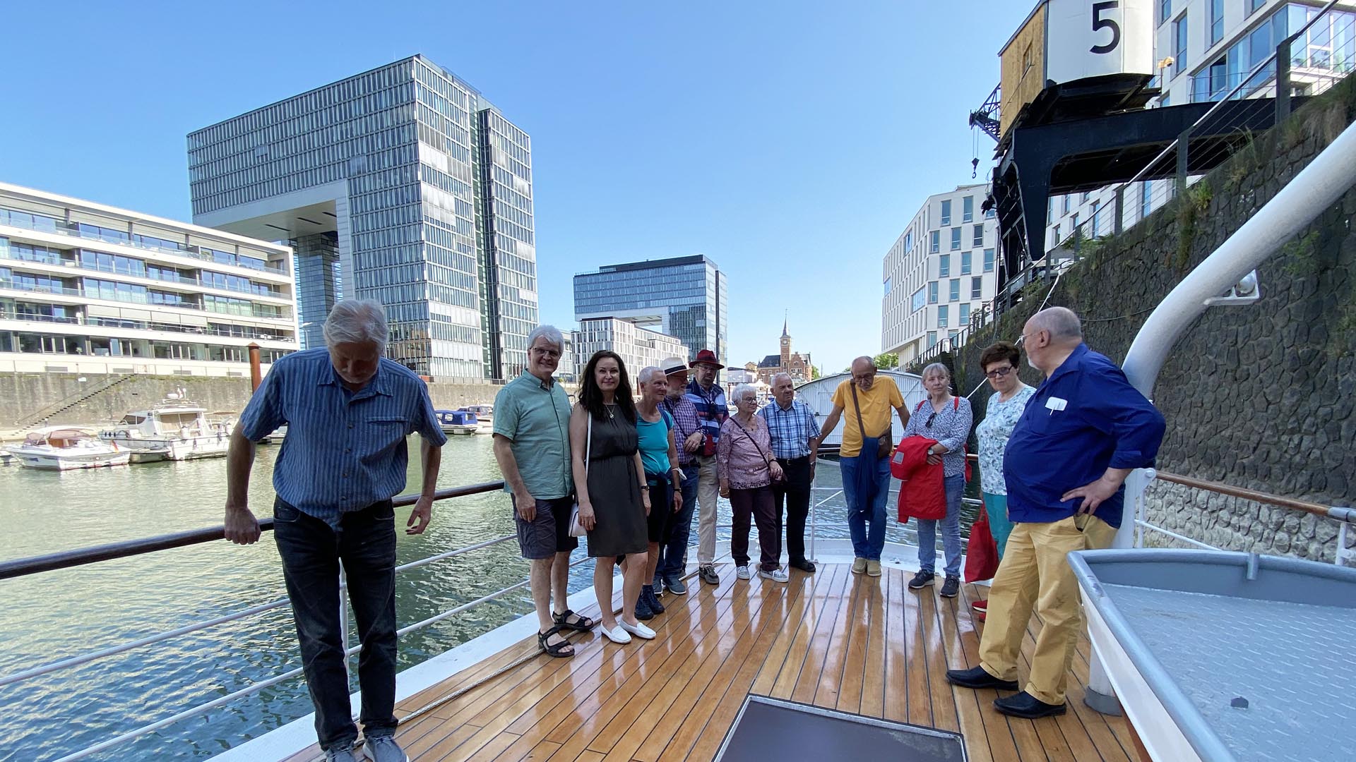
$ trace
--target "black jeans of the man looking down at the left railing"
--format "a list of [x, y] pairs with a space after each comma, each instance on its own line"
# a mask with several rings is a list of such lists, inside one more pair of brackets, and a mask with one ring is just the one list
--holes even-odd
[[396, 731], [396, 525], [391, 500], [343, 515], [339, 530], [277, 500], [273, 534], [282, 556], [301, 667], [316, 706], [320, 748], [354, 742], [348, 671], [339, 621], [339, 561], [358, 622], [362, 725], [370, 736]]

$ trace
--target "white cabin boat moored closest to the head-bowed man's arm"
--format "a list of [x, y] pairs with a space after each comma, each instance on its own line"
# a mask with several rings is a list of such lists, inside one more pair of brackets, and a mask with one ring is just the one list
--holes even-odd
[[99, 433], [104, 442], [132, 450], [133, 461], [184, 461], [226, 454], [233, 423], [209, 423], [206, 409], [171, 393], [151, 409], [133, 411]]

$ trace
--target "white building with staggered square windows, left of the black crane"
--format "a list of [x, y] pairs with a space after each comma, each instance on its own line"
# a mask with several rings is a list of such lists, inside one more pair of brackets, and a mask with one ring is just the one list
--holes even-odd
[[987, 184], [928, 197], [881, 270], [881, 351], [907, 365], [984, 315], [997, 287], [997, 220], [980, 212]]

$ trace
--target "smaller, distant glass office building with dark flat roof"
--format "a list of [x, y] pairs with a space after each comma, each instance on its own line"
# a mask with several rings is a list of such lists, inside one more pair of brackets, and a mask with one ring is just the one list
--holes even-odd
[[687, 347], [689, 359], [705, 348], [724, 365], [728, 290], [724, 274], [702, 255], [607, 264], [575, 275], [575, 320], [658, 325]]

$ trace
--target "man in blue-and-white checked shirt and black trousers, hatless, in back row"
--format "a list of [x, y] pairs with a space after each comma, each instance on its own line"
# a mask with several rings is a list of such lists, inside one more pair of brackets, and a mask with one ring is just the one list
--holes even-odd
[[[780, 525], [785, 521], [791, 565], [814, 572], [815, 563], [805, 559], [805, 517], [810, 515], [810, 495], [815, 483], [819, 424], [815, 423], [815, 412], [810, 405], [796, 399], [796, 385], [791, 376], [773, 376], [772, 393], [773, 401], [763, 405], [758, 415], [767, 422], [772, 454], [785, 475], [782, 481], [772, 484], [772, 495], [777, 500], [777, 522]], [[786, 506], [785, 519], [782, 503]]]

